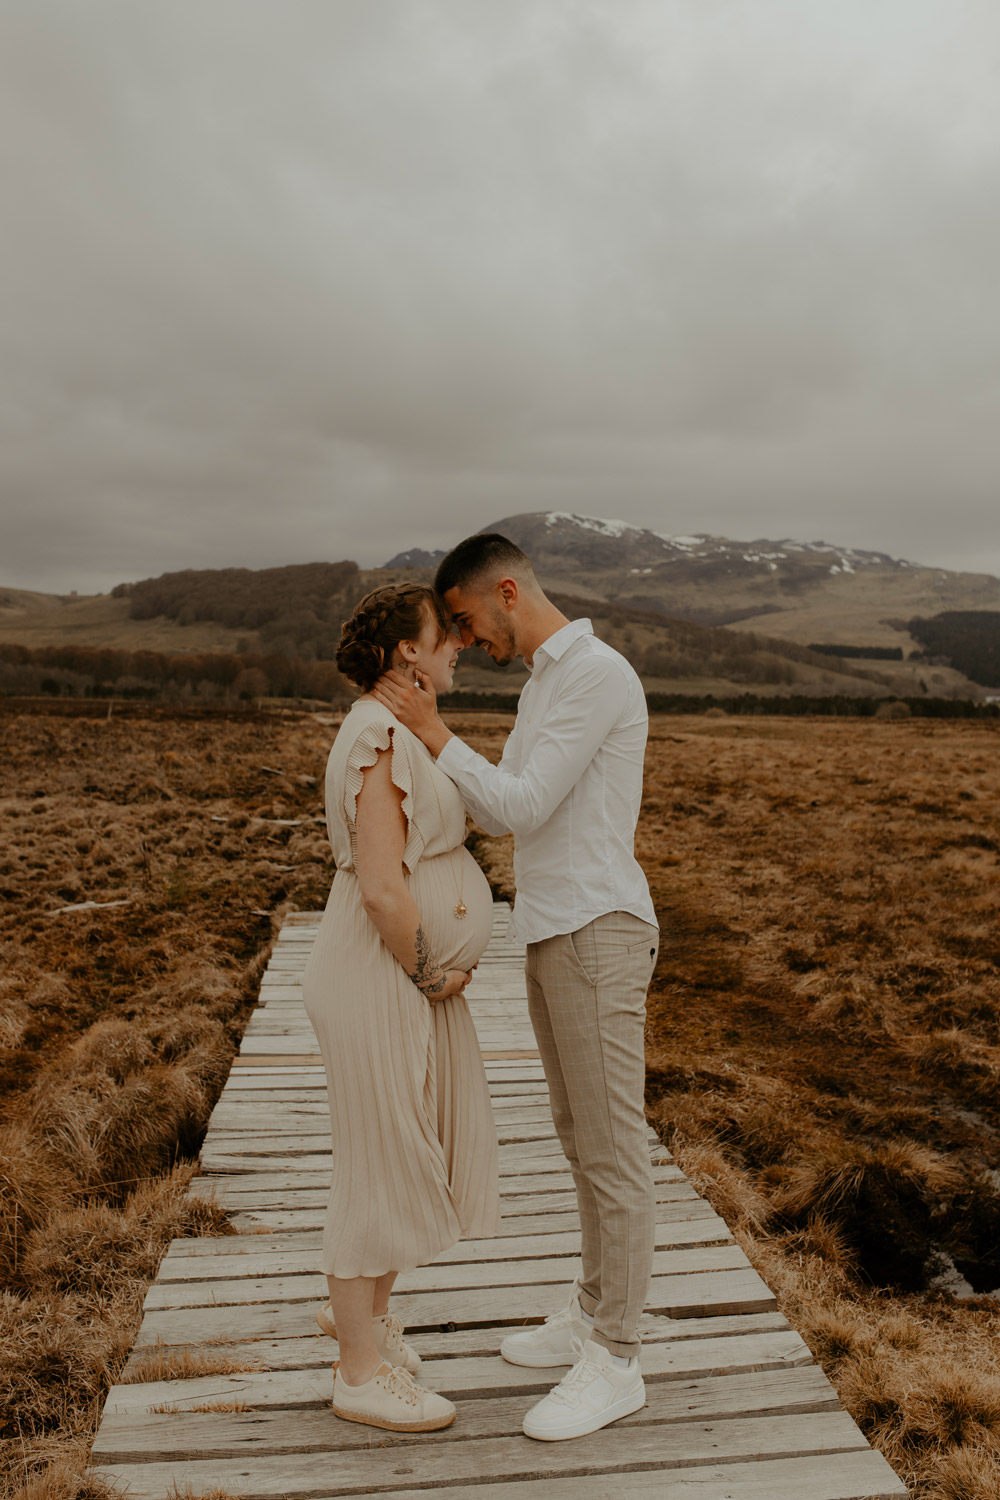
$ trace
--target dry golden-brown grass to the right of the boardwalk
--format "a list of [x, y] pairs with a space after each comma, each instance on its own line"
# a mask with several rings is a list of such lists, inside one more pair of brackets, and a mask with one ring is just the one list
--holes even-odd
[[637, 854], [651, 1119], [913, 1496], [997, 1500], [1000, 1300], [934, 1275], [1000, 1288], [1000, 726], [654, 718]]

